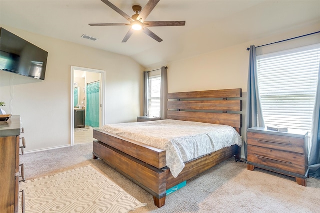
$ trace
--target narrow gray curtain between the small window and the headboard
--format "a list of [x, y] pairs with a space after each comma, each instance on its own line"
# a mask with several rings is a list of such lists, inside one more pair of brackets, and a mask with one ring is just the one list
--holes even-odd
[[168, 83], [167, 83], [167, 67], [161, 67], [161, 84], [160, 84], [160, 117], [161, 119], [166, 119], [167, 115], [167, 93], [168, 93]]

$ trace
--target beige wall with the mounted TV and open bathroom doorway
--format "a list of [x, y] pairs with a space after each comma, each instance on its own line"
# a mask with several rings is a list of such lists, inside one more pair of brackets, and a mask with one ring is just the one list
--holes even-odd
[[7, 113], [21, 116], [25, 151], [70, 145], [70, 66], [105, 70], [104, 123], [135, 121], [141, 115], [144, 69], [131, 58], [1, 27], [48, 52], [44, 81], [0, 71], [0, 100]]

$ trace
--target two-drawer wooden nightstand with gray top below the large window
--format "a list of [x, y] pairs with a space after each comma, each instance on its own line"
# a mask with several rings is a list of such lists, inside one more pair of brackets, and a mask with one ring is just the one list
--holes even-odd
[[266, 127], [247, 129], [247, 169], [254, 167], [291, 177], [306, 186], [308, 174], [307, 131], [280, 132]]

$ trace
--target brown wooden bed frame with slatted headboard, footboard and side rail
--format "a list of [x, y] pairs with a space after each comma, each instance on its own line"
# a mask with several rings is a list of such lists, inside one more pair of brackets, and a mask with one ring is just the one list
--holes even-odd
[[[241, 89], [206, 90], [168, 93], [167, 119], [225, 124], [240, 134]], [[233, 112], [234, 111], [234, 112]], [[230, 113], [231, 112], [231, 113]], [[166, 190], [186, 181], [235, 155], [233, 145], [185, 162], [181, 173], [173, 178], [165, 166], [165, 151], [99, 129], [93, 130], [92, 158], [109, 166], [153, 196], [154, 205], [162, 207]]]

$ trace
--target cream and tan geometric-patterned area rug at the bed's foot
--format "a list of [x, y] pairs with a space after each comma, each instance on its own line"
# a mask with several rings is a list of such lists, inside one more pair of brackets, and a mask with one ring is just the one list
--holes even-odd
[[19, 187], [26, 213], [127, 213], [146, 205], [91, 166], [26, 180]]

